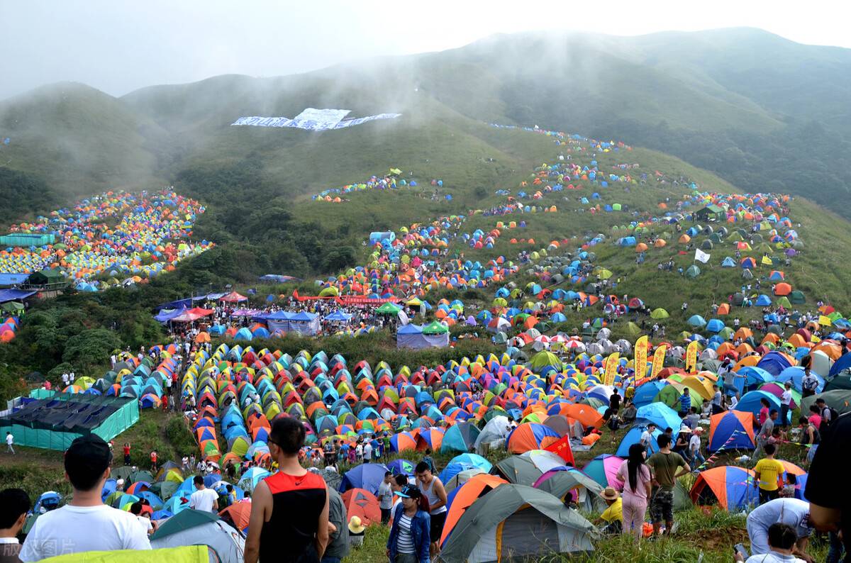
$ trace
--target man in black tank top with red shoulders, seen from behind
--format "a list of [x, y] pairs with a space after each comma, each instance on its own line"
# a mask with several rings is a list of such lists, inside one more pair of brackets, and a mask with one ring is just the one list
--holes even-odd
[[305, 427], [278, 417], [271, 425], [269, 452], [278, 472], [254, 488], [245, 542], [245, 563], [260, 560], [319, 563], [328, 545], [328, 488], [301, 467]]

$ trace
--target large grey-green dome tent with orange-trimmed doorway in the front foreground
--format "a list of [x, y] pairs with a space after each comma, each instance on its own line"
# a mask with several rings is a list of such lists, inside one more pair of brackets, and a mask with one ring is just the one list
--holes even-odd
[[480, 563], [591, 552], [593, 527], [549, 493], [501, 485], [473, 503], [452, 526], [441, 558]]

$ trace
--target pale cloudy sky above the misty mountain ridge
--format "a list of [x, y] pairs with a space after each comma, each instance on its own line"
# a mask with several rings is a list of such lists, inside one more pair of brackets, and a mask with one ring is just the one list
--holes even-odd
[[494, 33], [614, 35], [752, 26], [851, 48], [843, 0], [0, 0], [0, 99], [49, 82], [122, 95], [239, 73], [276, 76]]

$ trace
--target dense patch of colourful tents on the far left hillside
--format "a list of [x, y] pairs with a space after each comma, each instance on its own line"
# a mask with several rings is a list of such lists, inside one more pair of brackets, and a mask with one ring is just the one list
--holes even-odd
[[[82, 291], [139, 283], [174, 270], [181, 260], [212, 246], [206, 241], [181, 241], [191, 236], [203, 212], [203, 205], [173, 191], [107, 191], [31, 223], [14, 225], [13, 236], [21, 240], [12, 242], [22, 244], [0, 250], [0, 271], [59, 269]], [[119, 219], [117, 224], [107, 225], [106, 220], [113, 218]], [[110, 279], [93, 280], [102, 274]]]

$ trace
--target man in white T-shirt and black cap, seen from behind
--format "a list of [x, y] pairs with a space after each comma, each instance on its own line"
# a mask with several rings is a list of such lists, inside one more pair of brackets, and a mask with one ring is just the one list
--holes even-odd
[[106, 506], [100, 498], [110, 476], [110, 463], [109, 446], [100, 436], [82, 436], [71, 442], [65, 454], [65, 473], [73, 498], [38, 517], [20, 550], [20, 560], [84, 551], [151, 549], [136, 517]]

